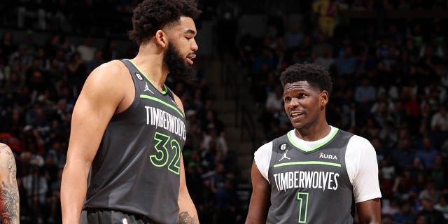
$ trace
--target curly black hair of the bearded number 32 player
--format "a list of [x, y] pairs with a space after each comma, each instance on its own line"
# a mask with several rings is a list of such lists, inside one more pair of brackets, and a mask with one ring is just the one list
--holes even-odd
[[140, 45], [165, 25], [177, 22], [181, 16], [194, 20], [201, 13], [194, 0], [145, 0], [134, 9], [132, 30], [128, 36]]

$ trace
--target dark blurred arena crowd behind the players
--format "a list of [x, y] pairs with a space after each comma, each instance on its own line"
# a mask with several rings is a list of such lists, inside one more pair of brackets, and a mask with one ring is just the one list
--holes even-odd
[[[279, 74], [296, 62], [329, 69], [328, 123], [377, 151], [382, 223], [447, 223], [448, 1], [197, 2], [198, 76], [167, 85], [186, 111], [201, 223], [244, 223], [253, 152], [293, 128]], [[138, 3], [0, 2], [0, 142], [16, 156], [21, 223], [61, 223], [73, 105], [90, 71], [137, 53]]]

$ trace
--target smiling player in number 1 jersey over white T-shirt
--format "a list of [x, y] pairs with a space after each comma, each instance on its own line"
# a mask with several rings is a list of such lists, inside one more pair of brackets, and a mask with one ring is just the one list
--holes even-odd
[[255, 152], [246, 223], [353, 223], [354, 211], [360, 223], [380, 223], [374, 148], [328, 125], [328, 71], [294, 64], [280, 80], [294, 129]]

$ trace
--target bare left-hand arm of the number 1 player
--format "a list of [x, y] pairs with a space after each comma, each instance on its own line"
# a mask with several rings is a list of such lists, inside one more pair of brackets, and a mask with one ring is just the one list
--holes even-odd
[[255, 162], [251, 169], [252, 195], [249, 204], [246, 224], [266, 223], [267, 209], [269, 208], [270, 186], [261, 175]]

